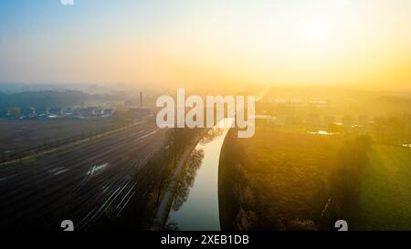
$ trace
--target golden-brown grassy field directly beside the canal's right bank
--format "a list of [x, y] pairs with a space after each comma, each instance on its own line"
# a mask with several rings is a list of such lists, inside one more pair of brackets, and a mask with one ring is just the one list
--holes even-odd
[[340, 145], [332, 136], [280, 130], [227, 136], [219, 170], [223, 229], [316, 229]]

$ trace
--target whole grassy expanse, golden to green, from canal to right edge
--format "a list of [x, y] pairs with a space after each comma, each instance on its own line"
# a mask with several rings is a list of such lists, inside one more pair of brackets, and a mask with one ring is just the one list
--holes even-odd
[[327, 230], [339, 219], [352, 230], [411, 230], [411, 150], [298, 130], [257, 127], [248, 140], [230, 131], [219, 202], [224, 230]]

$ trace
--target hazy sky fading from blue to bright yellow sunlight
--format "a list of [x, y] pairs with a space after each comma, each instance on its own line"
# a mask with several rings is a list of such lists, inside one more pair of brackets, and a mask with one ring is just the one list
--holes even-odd
[[410, 88], [411, 1], [2, 0], [0, 82]]

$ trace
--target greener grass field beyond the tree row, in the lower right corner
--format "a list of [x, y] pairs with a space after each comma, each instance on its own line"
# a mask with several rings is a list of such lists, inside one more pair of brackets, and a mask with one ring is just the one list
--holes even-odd
[[374, 145], [361, 185], [356, 230], [411, 230], [411, 150]]

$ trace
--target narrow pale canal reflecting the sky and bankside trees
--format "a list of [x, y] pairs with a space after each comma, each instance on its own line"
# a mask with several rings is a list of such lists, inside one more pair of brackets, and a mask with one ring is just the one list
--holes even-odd
[[210, 130], [192, 152], [175, 195], [166, 227], [181, 231], [219, 231], [218, 164], [233, 119]]

